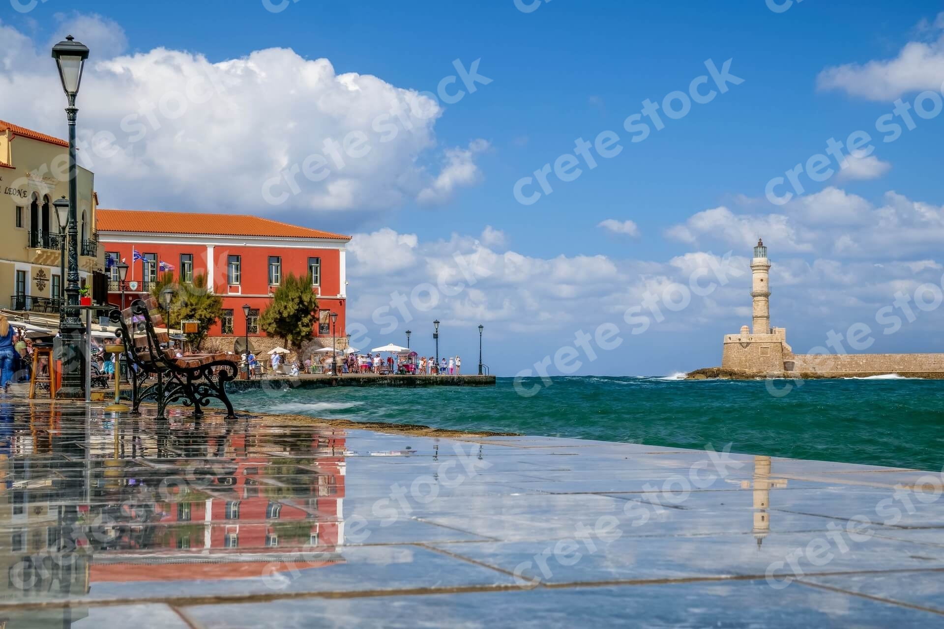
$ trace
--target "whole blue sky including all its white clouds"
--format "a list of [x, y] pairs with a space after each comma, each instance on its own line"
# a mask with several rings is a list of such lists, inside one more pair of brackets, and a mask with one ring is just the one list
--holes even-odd
[[944, 352], [940, 2], [158, 7], [0, 0], [0, 119], [65, 134], [71, 33], [100, 206], [351, 235], [357, 346], [716, 366], [763, 237], [794, 352]]

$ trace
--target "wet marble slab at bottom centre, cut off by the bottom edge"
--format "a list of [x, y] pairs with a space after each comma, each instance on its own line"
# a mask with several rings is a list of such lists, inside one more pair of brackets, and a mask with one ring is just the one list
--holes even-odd
[[462, 629], [514, 626], [646, 627], [926, 627], [944, 617], [895, 604], [797, 585], [764, 581], [685, 583], [611, 588], [468, 592], [359, 599], [306, 599], [267, 604], [188, 607], [208, 629], [367, 626]]

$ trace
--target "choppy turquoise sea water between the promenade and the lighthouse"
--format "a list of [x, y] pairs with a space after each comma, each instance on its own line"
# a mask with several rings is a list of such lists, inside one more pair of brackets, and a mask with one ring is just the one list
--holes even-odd
[[[540, 382], [525, 382], [530, 387]], [[789, 381], [778, 381], [782, 388]], [[551, 437], [716, 448], [940, 471], [944, 381], [811, 380], [783, 397], [764, 382], [660, 377], [555, 377], [532, 397], [512, 378], [494, 388], [248, 391], [247, 411], [418, 423]]]

